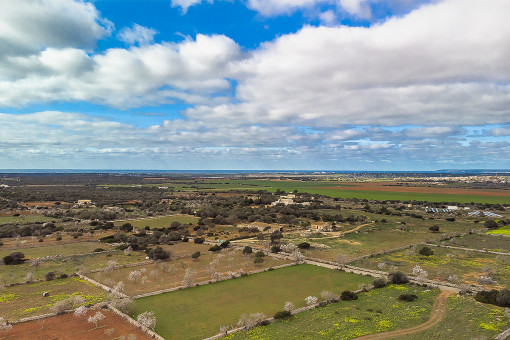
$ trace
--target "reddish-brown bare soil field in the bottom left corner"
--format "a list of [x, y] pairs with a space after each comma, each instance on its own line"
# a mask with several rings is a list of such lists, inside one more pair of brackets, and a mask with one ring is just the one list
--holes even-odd
[[74, 316], [73, 313], [70, 313], [16, 324], [9, 331], [0, 332], [0, 339], [99, 340], [119, 339], [122, 336], [127, 339], [152, 339], [135, 326], [124, 321], [117, 314], [104, 309], [100, 312], [106, 318], [100, 321], [97, 327], [87, 321], [90, 316], [96, 313], [95, 310], [89, 310], [84, 316]]

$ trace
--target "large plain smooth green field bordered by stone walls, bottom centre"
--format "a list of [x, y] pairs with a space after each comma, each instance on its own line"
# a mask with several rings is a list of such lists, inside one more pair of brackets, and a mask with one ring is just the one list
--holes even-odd
[[324, 289], [340, 294], [371, 281], [360, 275], [299, 265], [138, 299], [133, 315], [153, 311], [156, 332], [166, 339], [202, 339], [219, 333], [223, 325], [236, 325], [244, 313], [272, 316], [286, 301], [302, 307], [307, 296], [320, 297]]

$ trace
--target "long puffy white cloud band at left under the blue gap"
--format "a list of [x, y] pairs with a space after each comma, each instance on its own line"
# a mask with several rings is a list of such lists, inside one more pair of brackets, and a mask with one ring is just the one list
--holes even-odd
[[46, 49], [0, 62], [11, 79], [0, 80], [1, 106], [90, 101], [136, 107], [184, 101], [221, 103], [229, 96], [230, 63], [239, 46], [225, 36], [109, 49], [88, 56], [79, 49]]

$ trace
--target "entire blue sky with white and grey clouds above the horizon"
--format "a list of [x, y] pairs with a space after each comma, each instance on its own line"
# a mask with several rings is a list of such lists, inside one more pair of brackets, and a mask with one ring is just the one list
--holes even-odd
[[0, 3], [0, 168], [510, 168], [507, 0]]

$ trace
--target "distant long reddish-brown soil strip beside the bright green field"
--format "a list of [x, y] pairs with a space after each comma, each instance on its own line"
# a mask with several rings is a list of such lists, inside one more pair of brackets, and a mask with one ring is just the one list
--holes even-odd
[[479, 190], [479, 189], [442, 188], [442, 187], [406, 187], [397, 186], [396, 182], [362, 182], [352, 183], [349, 184], [349, 186], [324, 187], [322, 189], [510, 197], [510, 191], [508, 190], [496, 190], [496, 189]]

